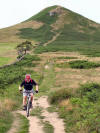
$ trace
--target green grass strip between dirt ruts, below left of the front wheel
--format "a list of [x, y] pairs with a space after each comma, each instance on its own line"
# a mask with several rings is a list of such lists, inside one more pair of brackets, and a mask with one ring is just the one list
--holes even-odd
[[20, 129], [16, 133], [28, 133], [29, 132], [29, 120], [23, 116], [18, 114], [20, 118]]

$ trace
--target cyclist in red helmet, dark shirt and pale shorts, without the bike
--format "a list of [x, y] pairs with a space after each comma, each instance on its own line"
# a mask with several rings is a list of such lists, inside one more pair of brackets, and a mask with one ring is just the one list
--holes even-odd
[[32, 102], [33, 102], [33, 94], [34, 90], [33, 87], [36, 86], [36, 93], [38, 93], [38, 84], [31, 79], [30, 74], [25, 75], [25, 80], [20, 84], [19, 86], [19, 91], [22, 92], [22, 87], [23, 89], [23, 110], [26, 110], [26, 103], [27, 103], [27, 94], [30, 93], [31, 95], [31, 107], [32, 107]]

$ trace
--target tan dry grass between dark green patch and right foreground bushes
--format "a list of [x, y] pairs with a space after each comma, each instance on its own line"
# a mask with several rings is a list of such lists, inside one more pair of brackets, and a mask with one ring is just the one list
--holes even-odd
[[55, 85], [61, 88], [77, 88], [86, 82], [100, 83], [100, 68], [89, 70], [60, 69], [56, 75]]

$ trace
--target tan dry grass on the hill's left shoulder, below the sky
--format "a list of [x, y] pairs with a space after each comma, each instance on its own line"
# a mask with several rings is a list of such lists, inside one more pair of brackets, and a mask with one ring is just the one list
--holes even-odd
[[[33, 28], [33, 29], [38, 29], [43, 25], [41, 22], [37, 21], [28, 21], [28, 22], [23, 22], [8, 28], [0, 29], [0, 42], [22, 42], [25, 41], [26, 39], [21, 39], [18, 34], [20, 29], [22, 28]], [[34, 43], [34, 41], [33, 41]]]

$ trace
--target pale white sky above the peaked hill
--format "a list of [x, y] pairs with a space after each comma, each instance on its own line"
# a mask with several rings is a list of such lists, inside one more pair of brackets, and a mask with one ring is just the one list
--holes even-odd
[[100, 0], [0, 0], [0, 29], [27, 20], [53, 5], [63, 6], [100, 23]]

